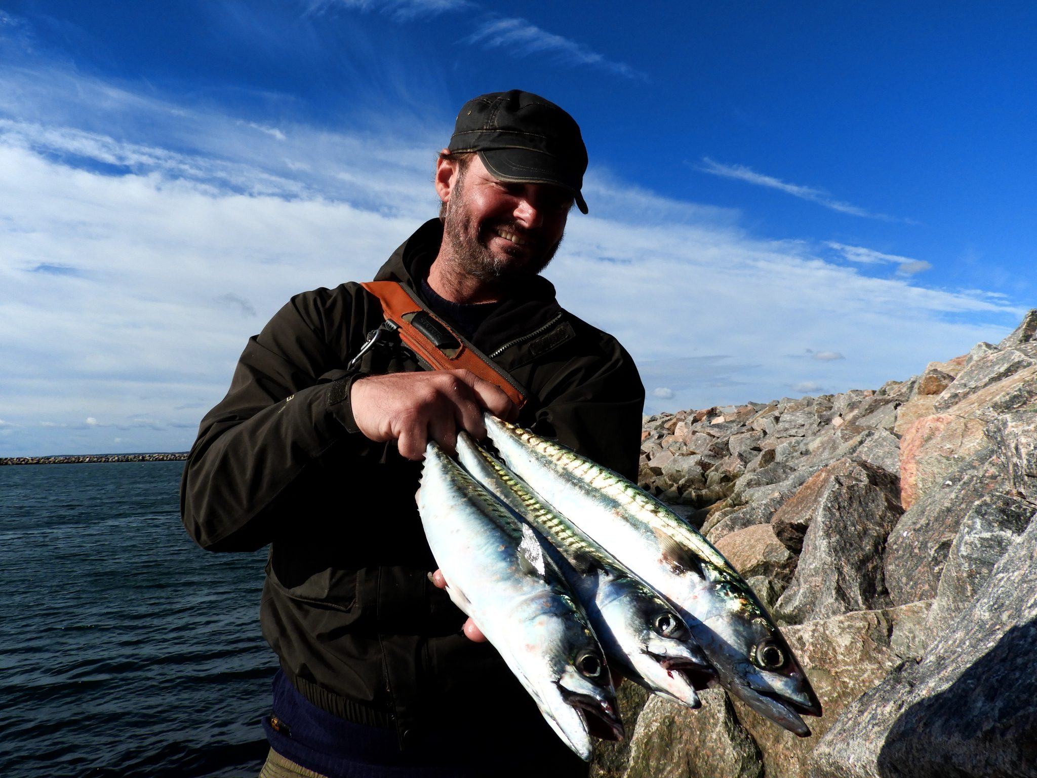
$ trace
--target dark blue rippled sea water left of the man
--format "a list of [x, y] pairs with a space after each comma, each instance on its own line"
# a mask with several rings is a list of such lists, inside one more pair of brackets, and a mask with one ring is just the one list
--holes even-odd
[[179, 521], [183, 462], [0, 467], [0, 775], [255, 776], [265, 553]]

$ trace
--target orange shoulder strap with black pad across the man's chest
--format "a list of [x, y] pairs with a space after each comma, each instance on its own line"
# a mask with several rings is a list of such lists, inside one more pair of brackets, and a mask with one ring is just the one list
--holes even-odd
[[400, 340], [426, 369], [471, 370], [499, 386], [518, 408], [526, 405], [525, 390], [510, 376], [425, 308], [403, 284], [367, 281], [360, 285], [382, 302], [386, 319], [396, 325]]

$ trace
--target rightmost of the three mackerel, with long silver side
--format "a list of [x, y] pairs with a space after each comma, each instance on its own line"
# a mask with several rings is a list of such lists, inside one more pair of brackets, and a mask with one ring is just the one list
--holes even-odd
[[725, 689], [810, 734], [800, 714], [821, 713], [810, 682], [752, 588], [708, 540], [621, 475], [488, 414], [484, 420], [512, 471], [677, 607]]

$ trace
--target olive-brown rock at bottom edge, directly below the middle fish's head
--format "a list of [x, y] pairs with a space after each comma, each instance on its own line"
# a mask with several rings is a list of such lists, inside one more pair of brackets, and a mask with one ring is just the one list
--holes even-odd
[[625, 778], [763, 778], [760, 750], [724, 691], [700, 696], [698, 711], [663, 697], [648, 700], [630, 739]]

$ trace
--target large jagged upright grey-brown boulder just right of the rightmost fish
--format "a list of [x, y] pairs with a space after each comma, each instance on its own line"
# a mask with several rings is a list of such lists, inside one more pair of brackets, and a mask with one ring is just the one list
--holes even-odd
[[792, 549], [806, 527], [800, 563], [775, 615], [800, 623], [890, 605], [881, 551], [900, 513], [896, 481], [880, 468], [840, 460], [814, 475], [772, 520]]

